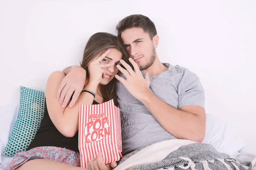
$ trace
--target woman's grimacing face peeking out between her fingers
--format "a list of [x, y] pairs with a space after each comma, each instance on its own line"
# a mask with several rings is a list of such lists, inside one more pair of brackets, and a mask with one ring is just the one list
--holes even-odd
[[105, 76], [102, 75], [102, 80], [100, 82], [101, 85], [107, 85], [117, 74], [118, 68], [116, 65], [120, 65], [120, 60], [122, 59], [122, 53], [118, 51], [116, 48], [110, 48], [110, 52], [107, 56], [100, 61], [100, 64], [113, 64], [110, 67], [103, 68], [105, 71]]

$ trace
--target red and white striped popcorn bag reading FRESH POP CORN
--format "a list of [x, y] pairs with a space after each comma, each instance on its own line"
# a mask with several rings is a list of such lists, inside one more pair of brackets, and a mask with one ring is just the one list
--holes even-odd
[[102, 152], [105, 164], [122, 157], [120, 109], [113, 99], [99, 105], [79, 107], [79, 151], [81, 167]]

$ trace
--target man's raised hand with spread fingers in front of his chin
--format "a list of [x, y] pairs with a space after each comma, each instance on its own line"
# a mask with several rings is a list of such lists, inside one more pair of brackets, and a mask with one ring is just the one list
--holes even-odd
[[120, 60], [121, 64], [126, 68], [126, 70], [120, 65], [117, 65], [117, 68], [119, 69], [119, 71], [122, 72], [122, 74], [124, 74], [126, 80], [122, 77], [119, 77], [118, 75], [116, 75], [115, 77], [125, 86], [125, 88], [130, 92], [132, 96], [134, 96], [137, 100], [140, 100], [144, 94], [150, 92], [149, 76], [148, 73], [146, 73], [144, 79], [137, 63], [131, 58], [129, 58], [129, 61], [134, 66], [135, 72], [132, 70], [131, 66], [128, 65], [124, 60]]

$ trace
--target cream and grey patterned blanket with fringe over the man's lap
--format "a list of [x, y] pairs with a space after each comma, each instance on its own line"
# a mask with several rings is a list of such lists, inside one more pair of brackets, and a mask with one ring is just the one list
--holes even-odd
[[129, 153], [114, 170], [252, 170], [255, 162], [239, 162], [210, 144], [172, 139]]

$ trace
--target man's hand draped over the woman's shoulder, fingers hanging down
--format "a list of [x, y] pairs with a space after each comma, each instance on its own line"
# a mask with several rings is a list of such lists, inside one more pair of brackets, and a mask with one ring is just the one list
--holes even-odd
[[60, 98], [59, 103], [62, 104], [62, 108], [66, 108], [72, 94], [74, 93], [69, 107], [72, 108], [75, 105], [81, 91], [84, 88], [86, 79], [86, 71], [79, 66], [73, 66], [70, 73], [61, 82], [58, 88], [57, 97]]

